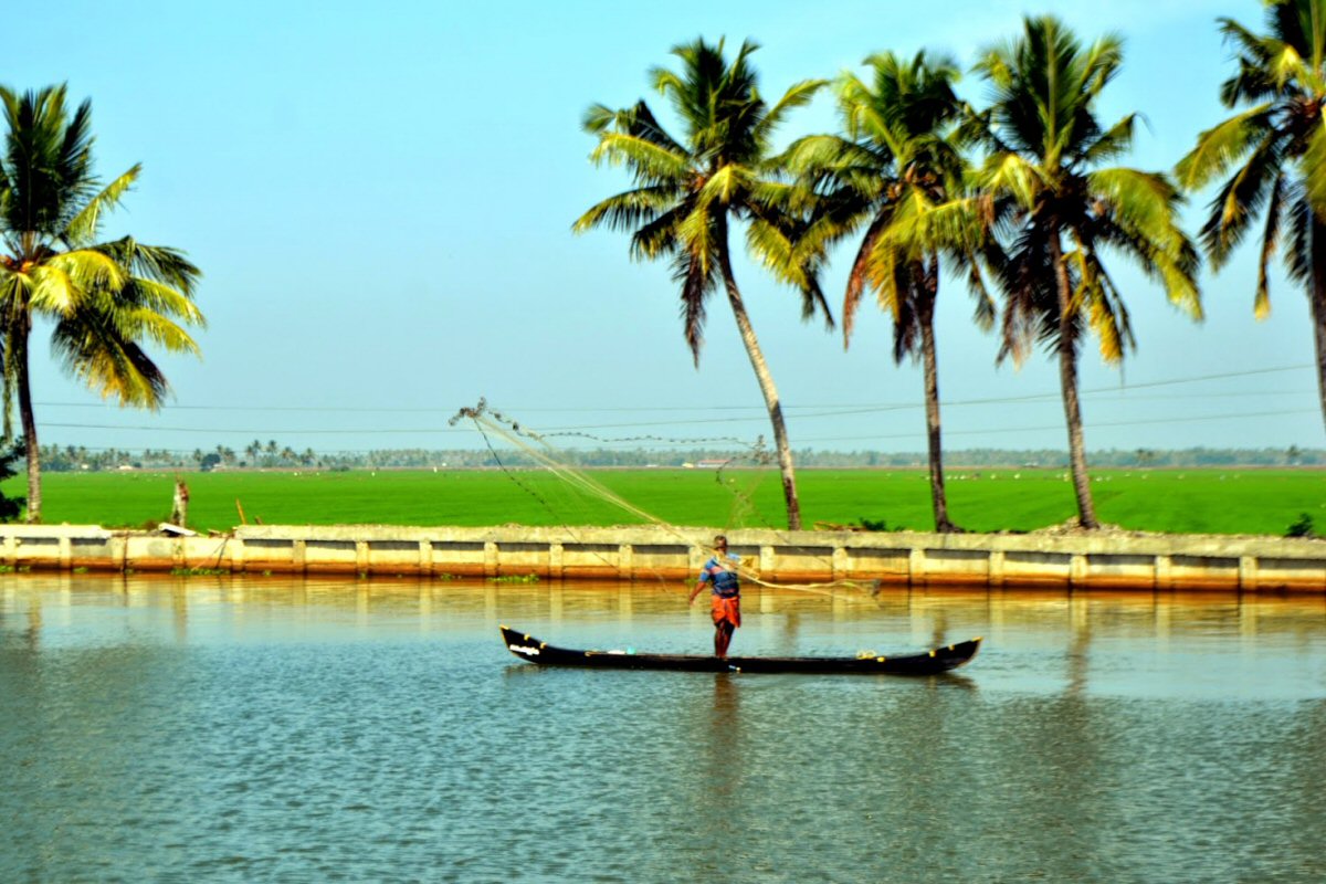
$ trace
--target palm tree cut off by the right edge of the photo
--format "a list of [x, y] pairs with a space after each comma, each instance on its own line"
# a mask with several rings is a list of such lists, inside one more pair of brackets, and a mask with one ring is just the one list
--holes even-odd
[[1326, 420], [1326, 0], [1269, 0], [1265, 27], [1254, 34], [1220, 19], [1238, 54], [1220, 99], [1238, 113], [1201, 133], [1176, 172], [1183, 187], [1200, 190], [1233, 170], [1201, 228], [1216, 269], [1265, 212], [1253, 313], [1270, 314], [1266, 270], [1284, 244], [1289, 278], [1307, 293]]

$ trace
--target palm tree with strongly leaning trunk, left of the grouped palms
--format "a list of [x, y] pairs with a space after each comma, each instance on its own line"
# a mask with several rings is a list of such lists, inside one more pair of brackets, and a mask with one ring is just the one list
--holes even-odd
[[773, 133], [788, 111], [810, 101], [823, 83], [800, 82], [773, 106], [765, 105], [749, 64], [756, 48], [743, 42], [728, 62], [721, 40], [711, 45], [700, 38], [672, 49], [680, 72], [651, 72], [654, 86], [682, 121], [682, 139], [670, 135], [643, 101], [623, 110], [590, 107], [585, 129], [598, 138], [590, 159], [625, 164], [635, 187], [590, 208], [573, 229], [627, 231], [633, 257], [672, 261], [682, 286], [683, 330], [696, 366], [707, 301], [723, 285], [773, 425], [788, 526], [800, 529], [801, 505], [782, 406], [732, 272], [728, 229], [733, 220], [747, 221], [752, 253], [780, 281], [801, 290], [802, 317], [817, 309], [829, 317], [814, 278], [821, 257], [804, 254], [794, 244], [805, 221], [782, 205], [788, 188], [777, 179], [770, 150]]

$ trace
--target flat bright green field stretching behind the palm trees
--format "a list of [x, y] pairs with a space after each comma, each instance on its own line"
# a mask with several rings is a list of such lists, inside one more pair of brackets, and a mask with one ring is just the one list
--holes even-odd
[[[542, 472], [355, 470], [183, 473], [190, 525], [228, 530], [268, 525], [629, 525], [644, 521]], [[676, 525], [782, 527], [772, 470], [595, 470], [590, 476], [634, 506]], [[1307, 513], [1326, 534], [1326, 472], [1311, 469], [1095, 470], [1102, 521], [1171, 533], [1282, 535]], [[806, 525], [886, 522], [928, 530], [923, 470], [801, 470]], [[155, 526], [170, 513], [174, 474], [46, 473], [45, 521]], [[23, 478], [0, 488], [25, 493]], [[1063, 522], [1075, 509], [1062, 470], [955, 469], [951, 516], [979, 531], [1033, 530]]]

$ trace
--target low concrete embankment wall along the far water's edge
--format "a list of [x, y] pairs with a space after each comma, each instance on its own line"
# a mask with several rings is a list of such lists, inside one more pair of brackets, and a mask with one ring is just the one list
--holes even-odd
[[[260, 525], [170, 537], [85, 525], [0, 525], [15, 569], [223, 570], [570, 579], [690, 579], [713, 529]], [[919, 586], [1326, 592], [1326, 541], [1221, 535], [728, 531], [761, 579]]]

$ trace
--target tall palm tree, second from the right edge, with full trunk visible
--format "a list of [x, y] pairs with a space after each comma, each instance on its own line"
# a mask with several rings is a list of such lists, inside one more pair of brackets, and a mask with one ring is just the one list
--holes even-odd
[[977, 175], [981, 212], [1006, 254], [998, 270], [1005, 294], [1000, 357], [1021, 360], [1040, 338], [1058, 358], [1083, 527], [1099, 522], [1082, 435], [1078, 346], [1095, 333], [1107, 363], [1135, 346], [1102, 252], [1132, 258], [1174, 305], [1201, 318], [1199, 257], [1177, 225], [1177, 191], [1162, 172], [1103, 167], [1131, 147], [1136, 122], [1128, 114], [1106, 129], [1095, 115], [1122, 60], [1116, 37], [1083, 46], [1053, 17], [1025, 19], [1020, 37], [976, 65], [993, 95], [989, 109], [968, 121], [968, 133], [988, 150]]

